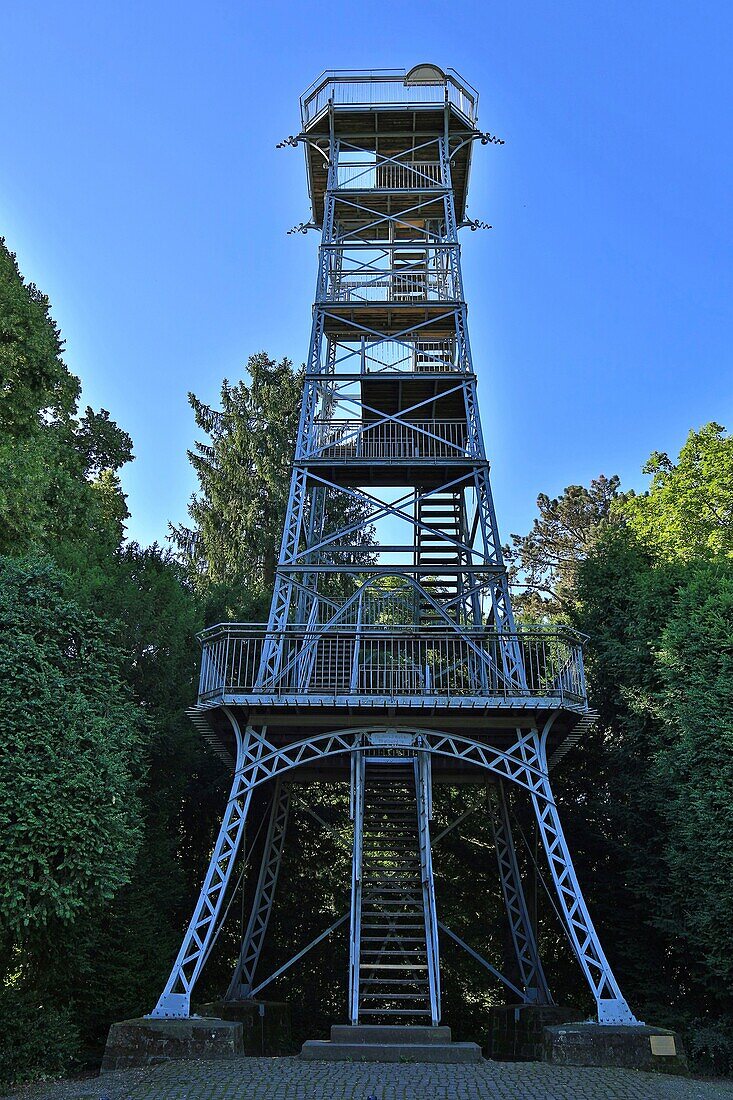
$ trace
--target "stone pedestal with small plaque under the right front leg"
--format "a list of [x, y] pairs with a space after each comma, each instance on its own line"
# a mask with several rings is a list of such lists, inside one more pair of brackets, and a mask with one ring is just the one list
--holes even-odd
[[679, 1036], [664, 1027], [572, 1023], [545, 1027], [544, 1060], [557, 1066], [621, 1066], [687, 1072]]

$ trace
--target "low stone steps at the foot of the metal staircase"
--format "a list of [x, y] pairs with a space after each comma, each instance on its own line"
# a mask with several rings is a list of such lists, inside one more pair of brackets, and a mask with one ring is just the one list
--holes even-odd
[[331, 1027], [330, 1040], [308, 1040], [300, 1057], [306, 1062], [481, 1062], [477, 1043], [453, 1043], [450, 1027], [400, 1027], [364, 1024]]

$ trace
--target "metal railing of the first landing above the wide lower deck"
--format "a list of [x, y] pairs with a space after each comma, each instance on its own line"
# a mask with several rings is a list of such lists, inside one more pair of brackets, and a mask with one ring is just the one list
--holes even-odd
[[311, 458], [379, 462], [469, 457], [466, 420], [321, 420]]

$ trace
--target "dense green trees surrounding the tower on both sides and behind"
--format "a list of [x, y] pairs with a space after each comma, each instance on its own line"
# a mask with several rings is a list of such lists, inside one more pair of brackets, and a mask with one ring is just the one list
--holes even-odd
[[[192, 395], [206, 440], [189, 455], [190, 526], [172, 529], [175, 553], [127, 542], [119, 470], [132, 442], [107, 411], [79, 409], [48, 302], [0, 246], [0, 1086], [94, 1062], [109, 1023], [149, 1011], [165, 980], [228, 784], [185, 713], [195, 636], [266, 614], [302, 381], [261, 352], [245, 381], [223, 383], [220, 409]], [[708, 425], [676, 462], [655, 453], [646, 469], [645, 494], [599, 477], [540, 496], [508, 556], [521, 616], [589, 636], [599, 722], [557, 788], [608, 954], [639, 1015], [683, 1027], [699, 1063], [725, 1069], [733, 441]], [[471, 799], [475, 813], [436, 843], [440, 916], [511, 976], [480, 792], [436, 791], [434, 832]], [[556, 998], [590, 1009], [532, 873], [522, 799], [513, 813]], [[250, 868], [261, 844], [253, 828]], [[343, 784], [296, 790], [263, 970], [348, 909], [349, 848]], [[229, 980], [255, 878], [232, 893], [201, 1000]], [[451, 944], [444, 967], [446, 1018], [485, 1038], [502, 990]], [[337, 934], [267, 992], [313, 1035], [341, 1014], [346, 969]]]

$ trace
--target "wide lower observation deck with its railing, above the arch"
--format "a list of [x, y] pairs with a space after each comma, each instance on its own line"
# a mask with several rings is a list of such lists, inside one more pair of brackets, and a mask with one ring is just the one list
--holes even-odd
[[[297, 740], [306, 729], [313, 735], [362, 726], [455, 729], [501, 745], [514, 739], [518, 724], [541, 728], [555, 715], [550, 756], [588, 715], [581, 641], [570, 631], [293, 627], [277, 636], [282, 660], [269, 680], [262, 672], [272, 639], [265, 625], [219, 624], [199, 637], [198, 703], [208, 713], [209, 739], [223, 752], [231, 729], [218, 714], [222, 706], [266, 725], [276, 745]], [[504, 672], [506, 648], [514, 645], [522, 683]], [[456, 778], [456, 766], [448, 774]]]

